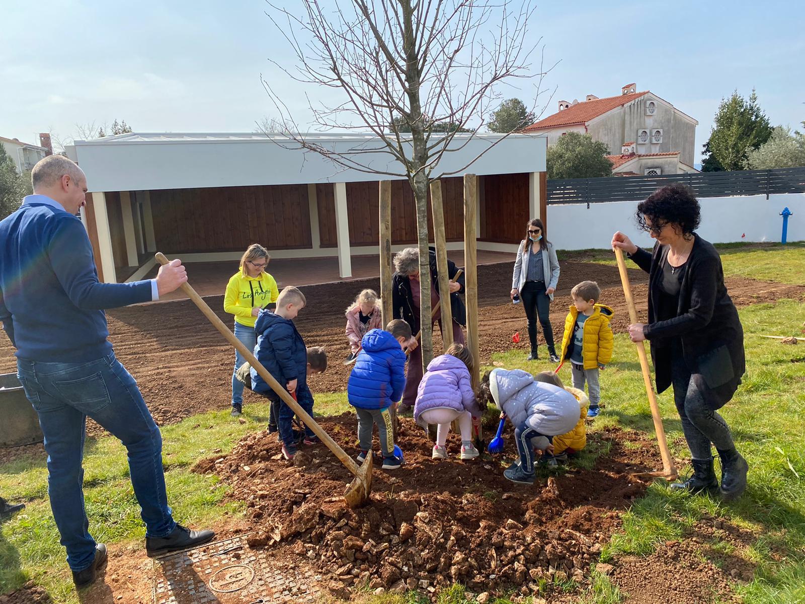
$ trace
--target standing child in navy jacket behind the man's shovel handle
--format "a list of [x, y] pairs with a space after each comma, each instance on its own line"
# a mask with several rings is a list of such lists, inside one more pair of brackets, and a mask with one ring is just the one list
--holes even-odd
[[[285, 288], [277, 298], [275, 312], [261, 310], [257, 322], [254, 324], [254, 333], [257, 335], [257, 345], [254, 347], [254, 356], [269, 371], [279, 385], [286, 388], [295, 396], [299, 407], [309, 415], [313, 415], [313, 395], [308, 387], [308, 371], [316, 373], [317, 369], [308, 366], [308, 350], [305, 348], [302, 336], [296, 330], [294, 319], [306, 303], [302, 292], [297, 288]], [[254, 367], [250, 369], [252, 390], [271, 400], [272, 407], [279, 403], [279, 438], [283, 441], [283, 456], [293, 459], [296, 453], [294, 440], [293, 418], [291, 407], [271, 390]], [[313, 431], [305, 427], [305, 442], [312, 444], [318, 441]]]

